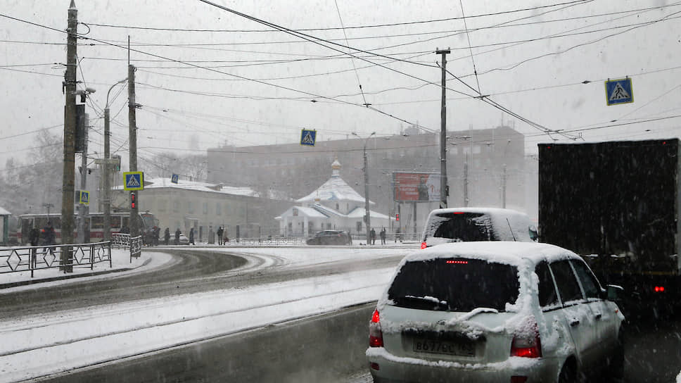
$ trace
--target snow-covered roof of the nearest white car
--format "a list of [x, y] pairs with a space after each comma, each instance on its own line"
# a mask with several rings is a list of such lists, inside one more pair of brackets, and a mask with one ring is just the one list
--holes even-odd
[[542, 260], [580, 258], [577, 254], [552, 244], [535, 242], [480, 241], [454, 242], [422, 249], [406, 256], [402, 263], [435, 258], [472, 258], [496, 263], [518, 265], [523, 260], [540, 263]]

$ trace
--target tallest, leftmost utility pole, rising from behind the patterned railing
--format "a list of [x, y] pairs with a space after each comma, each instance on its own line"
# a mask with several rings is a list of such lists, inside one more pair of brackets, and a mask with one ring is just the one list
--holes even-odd
[[[66, 46], [66, 75], [63, 83], [66, 104], [64, 108], [64, 175], [61, 192], [61, 242], [73, 243], [73, 194], [75, 178], [75, 132], [76, 132], [76, 54], [77, 54], [78, 10], [74, 0], [68, 8], [68, 28]], [[72, 272], [66, 266], [71, 258], [71, 249], [65, 248], [61, 253], [60, 264], [64, 272]]]

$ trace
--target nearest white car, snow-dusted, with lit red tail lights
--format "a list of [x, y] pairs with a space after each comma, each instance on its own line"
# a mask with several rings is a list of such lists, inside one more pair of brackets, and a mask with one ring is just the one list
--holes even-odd
[[369, 323], [374, 382], [576, 382], [623, 372], [624, 316], [575, 253], [460, 242], [412, 253]]

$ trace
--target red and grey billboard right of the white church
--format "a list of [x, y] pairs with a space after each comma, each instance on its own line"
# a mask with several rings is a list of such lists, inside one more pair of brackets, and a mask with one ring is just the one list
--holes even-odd
[[394, 172], [395, 201], [440, 201], [440, 173]]

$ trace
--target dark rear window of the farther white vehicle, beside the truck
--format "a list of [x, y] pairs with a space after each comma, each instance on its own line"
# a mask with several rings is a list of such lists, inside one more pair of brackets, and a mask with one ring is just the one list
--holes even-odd
[[492, 219], [483, 213], [440, 213], [428, 222], [426, 238], [437, 237], [456, 241], [491, 241]]

